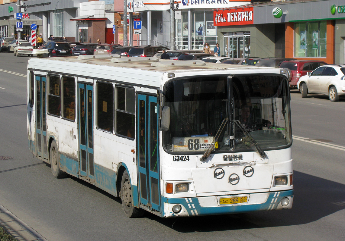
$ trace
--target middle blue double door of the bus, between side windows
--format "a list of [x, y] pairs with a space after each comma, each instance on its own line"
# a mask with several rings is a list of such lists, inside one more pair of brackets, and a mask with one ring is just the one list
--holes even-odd
[[78, 84], [79, 170], [81, 177], [89, 181], [95, 180], [93, 168], [92, 91], [92, 85]]

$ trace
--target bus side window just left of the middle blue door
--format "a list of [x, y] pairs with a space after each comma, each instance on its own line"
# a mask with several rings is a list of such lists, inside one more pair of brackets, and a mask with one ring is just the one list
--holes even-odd
[[76, 119], [76, 83], [73, 77], [62, 77], [63, 117], [74, 121]]

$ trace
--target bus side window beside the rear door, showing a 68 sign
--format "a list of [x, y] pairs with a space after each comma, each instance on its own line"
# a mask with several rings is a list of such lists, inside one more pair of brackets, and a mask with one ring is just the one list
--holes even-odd
[[48, 113], [54, 116], [61, 116], [61, 94], [60, 94], [60, 76], [49, 75], [48, 90]]

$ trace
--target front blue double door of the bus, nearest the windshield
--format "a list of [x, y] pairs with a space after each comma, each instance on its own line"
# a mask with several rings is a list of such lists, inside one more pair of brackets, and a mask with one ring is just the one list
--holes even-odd
[[138, 95], [137, 153], [140, 202], [160, 211], [157, 97]]

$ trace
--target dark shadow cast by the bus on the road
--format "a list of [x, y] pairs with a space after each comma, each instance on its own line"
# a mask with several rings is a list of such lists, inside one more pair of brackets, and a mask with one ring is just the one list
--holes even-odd
[[345, 185], [295, 171], [294, 204], [289, 210], [177, 219], [161, 219], [151, 214], [146, 217], [187, 233], [299, 225], [344, 208]]

